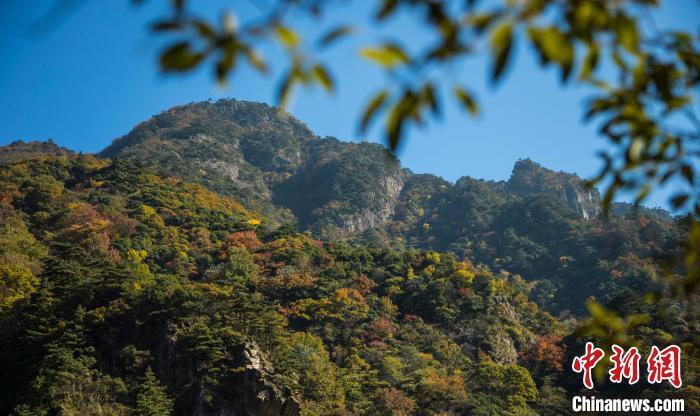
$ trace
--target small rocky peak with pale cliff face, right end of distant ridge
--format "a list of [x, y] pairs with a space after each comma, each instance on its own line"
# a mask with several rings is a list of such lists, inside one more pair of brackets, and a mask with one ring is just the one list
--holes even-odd
[[506, 187], [519, 196], [549, 194], [590, 220], [600, 212], [600, 195], [576, 175], [546, 169], [530, 159], [519, 160]]

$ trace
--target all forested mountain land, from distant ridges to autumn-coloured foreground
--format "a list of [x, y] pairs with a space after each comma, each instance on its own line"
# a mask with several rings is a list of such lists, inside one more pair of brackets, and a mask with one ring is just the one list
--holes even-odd
[[235, 100], [99, 155], [13, 143], [0, 414], [568, 414], [611, 333], [681, 345], [683, 387], [594, 393], [698, 412], [697, 302], [668, 296], [687, 219], [599, 204], [530, 160], [450, 183]]

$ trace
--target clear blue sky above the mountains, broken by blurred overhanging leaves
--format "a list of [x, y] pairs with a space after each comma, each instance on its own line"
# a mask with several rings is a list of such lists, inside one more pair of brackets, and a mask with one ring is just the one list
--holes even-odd
[[[163, 0], [142, 7], [128, 0], [63, 0], [79, 6], [68, 14], [53, 14], [51, 6], [58, 1], [0, 2], [0, 145], [52, 138], [74, 150], [96, 152], [174, 105], [222, 97], [274, 101], [274, 80], [249, 71], [237, 74], [225, 88], [213, 82], [208, 67], [186, 76], [160, 74], [156, 57], [161, 44], [147, 27], [162, 16]], [[253, 3], [211, 0], [202, 13], [214, 16], [222, 6], [243, 4], [235, 11], [251, 16], [256, 13]], [[366, 3], [343, 6], [339, 13], [360, 26], [358, 40], [345, 41], [324, 55], [332, 63], [336, 94], [300, 91], [289, 108], [321, 136], [381, 140], [376, 130], [360, 137], [356, 128], [367, 98], [386, 82], [357, 56], [373, 32], [371, 10], [362, 7]], [[697, 1], [666, 0], [657, 21], [662, 27], [697, 30], [699, 17]], [[313, 22], [300, 24], [306, 37], [320, 31]], [[391, 30], [415, 43], [426, 36], [420, 26], [402, 18]], [[279, 51], [263, 52], [273, 69], [284, 69]], [[605, 142], [595, 125], [581, 120], [587, 93], [562, 86], [552, 71], [541, 71], [523, 45], [516, 49], [514, 62], [514, 70], [496, 88], [488, 85], [485, 61], [458, 68], [455, 76], [478, 93], [482, 115], [470, 119], [453, 107], [441, 122], [411, 131], [399, 154], [404, 166], [453, 181], [464, 175], [501, 180], [510, 176], [517, 159], [530, 157], [584, 177], [596, 173], [601, 166], [596, 153]], [[652, 195], [648, 205], [665, 206], [671, 193], [666, 189]]]

